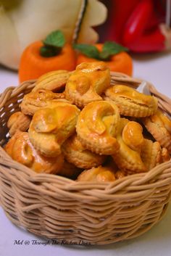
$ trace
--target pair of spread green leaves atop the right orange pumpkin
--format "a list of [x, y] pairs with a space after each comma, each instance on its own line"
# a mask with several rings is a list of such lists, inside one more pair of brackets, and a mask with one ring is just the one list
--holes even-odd
[[113, 55], [119, 54], [121, 51], [128, 51], [128, 48], [114, 41], [105, 42], [101, 51], [91, 44], [74, 44], [73, 47], [87, 57], [104, 61], [110, 60]]

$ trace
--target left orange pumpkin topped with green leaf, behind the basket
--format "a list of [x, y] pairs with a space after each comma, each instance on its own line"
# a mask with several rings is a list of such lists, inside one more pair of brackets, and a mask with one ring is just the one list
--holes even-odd
[[19, 67], [20, 82], [36, 79], [54, 70], [75, 70], [76, 55], [66, 44], [60, 30], [51, 32], [43, 41], [30, 44], [22, 53]]

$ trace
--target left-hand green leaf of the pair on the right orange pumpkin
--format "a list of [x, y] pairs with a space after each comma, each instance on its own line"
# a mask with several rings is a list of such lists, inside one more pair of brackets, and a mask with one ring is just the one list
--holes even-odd
[[99, 59], [99, 50], [91, 44], [74, 44], [74, 49], [79, 50], [89, 58]]

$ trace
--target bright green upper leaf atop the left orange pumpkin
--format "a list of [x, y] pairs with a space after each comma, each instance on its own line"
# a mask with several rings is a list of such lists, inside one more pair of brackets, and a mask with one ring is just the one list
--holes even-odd
[[43, 44], [45, 46], [62, 48], [65, 44], [64, 34], [60, 30], [53, 31], [48, 36], [46, 36], [46, 38], [43, 40]]

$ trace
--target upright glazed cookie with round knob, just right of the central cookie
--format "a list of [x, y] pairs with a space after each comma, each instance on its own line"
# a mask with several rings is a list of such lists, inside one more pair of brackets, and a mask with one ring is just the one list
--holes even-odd
[[141, 159], [144, 141], [142, 126], [134, 121], [121, 118], [120, 131], [116, 138], [120, 144], [120, 149], [112, 157], [120, 170], [128, 170], [134, 173], [146, 171], [146, 165]]

